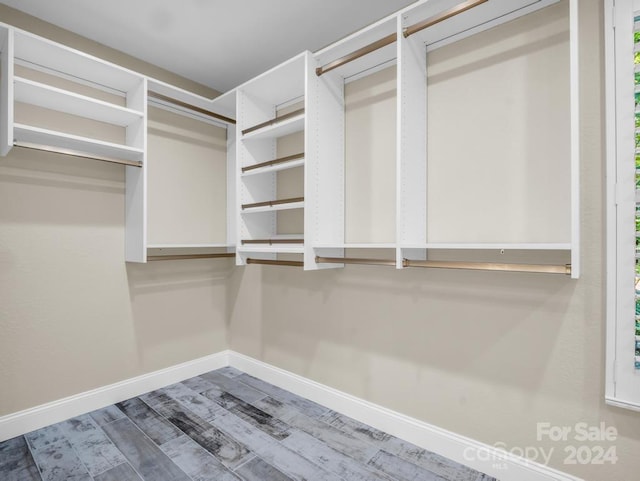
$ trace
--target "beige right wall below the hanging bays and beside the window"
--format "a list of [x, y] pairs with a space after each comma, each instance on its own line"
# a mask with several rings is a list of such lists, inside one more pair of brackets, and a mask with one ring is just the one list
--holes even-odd
[[[519, 20], [520, 28], [547, 24], [534, 30], [556, 35], [567, 3]], [[590, 481], [637, 480], [640, 415], [604, 404], [602, 8], [598, 0], [580, 1], [580, 280], [364, 266], [238, 269], [228, 293], [232, 349], [489, 444], [553, 447], [552, 466]], [[496, 32], [447, 49], [476, 48]], [[541, 42], [537, 53], [519, 54], [525, 61], [533, 55], [539, 66], [540, 49], [563, 44], [560, 35]], [[447, 52], [432, 61], [436, 55]], [[535, 118], [537, 107], [523, 118], [529, 113]], [[614, 444], [619, 460], [565, 465], [565, 444], [536, 440], [538, 422], [615, 426], [617, 441], [603, 445]]]

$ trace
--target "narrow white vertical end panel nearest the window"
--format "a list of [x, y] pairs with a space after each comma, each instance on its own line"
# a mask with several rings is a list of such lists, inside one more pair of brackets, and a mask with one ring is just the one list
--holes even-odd
[[578, 0], [569, 4], [571, 81], [571, 277], [580, 277], [580, 36]]

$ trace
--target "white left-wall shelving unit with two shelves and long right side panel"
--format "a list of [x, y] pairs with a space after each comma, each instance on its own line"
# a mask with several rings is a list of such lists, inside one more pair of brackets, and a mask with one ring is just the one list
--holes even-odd
[[[135, 231], [146, 215], [147, 79], [8, 25], [0, 25], [0, 36], [0, 154], [7, 155], [12, 148], [21, 147], [125, 164], [126, 259], [143, 260], [143, 242]], [[17, 69], [29, 78], [17, 75]], [[96, 95], [87, 95], [85, 91]], [[114, 101], [99, 98], [104, 93]], [[38, 125], [37, 118], [33, 118], [34, 122], [16, 122], [16, 104], [122, 128], [122, 141], [46, 128]]]

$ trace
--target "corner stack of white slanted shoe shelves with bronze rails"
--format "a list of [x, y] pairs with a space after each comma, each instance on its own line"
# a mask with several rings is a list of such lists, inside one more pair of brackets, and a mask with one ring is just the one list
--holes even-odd
[[[297, 258], [304, 254], [301, 215], [305, 209], [306, 139], [311, 128], [307, 111], [310, 62], [311, 54], [305, 52], [236, 91], [238, 265], [247, 264], [247, 259], [277, 260], [279, 255], [297, 254]], [[287, 145], [289, 151], [282, 154]], [[289, 185], [283, 185], [285, 177]], [[292, 220], [283, 233], [287, 216]]]

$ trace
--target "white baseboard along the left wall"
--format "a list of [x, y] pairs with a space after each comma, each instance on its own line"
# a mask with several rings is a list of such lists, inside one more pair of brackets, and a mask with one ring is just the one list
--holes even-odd
[[115, 384], [0, 417], [0, 441], [40, 429], [65, 419], [140, 396], [229, 365], [229, 351], [143, 374]]

